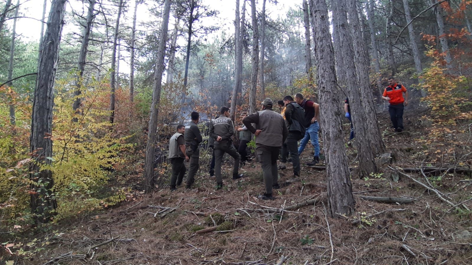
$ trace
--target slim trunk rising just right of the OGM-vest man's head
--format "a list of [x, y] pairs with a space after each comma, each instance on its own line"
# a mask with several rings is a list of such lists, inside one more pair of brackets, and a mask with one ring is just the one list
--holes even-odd
[[[245, 0], [243, 0], [245, 1]], [[239, 64], [243, 63], [243, 46], [241, 45], [241, 24], [239, 21], [239, 0], [236, 0], [236, 9], [235, 9], [235, 52], [236, 52], [236, 67], [235, 67], [235, 84], [233, 86], [233, 96], [231, 97], [231, 120], [235, 120], [236, 117], [236, 103], [237, 103], [237, 92], [239, 90], [239, 81], [241, 79], [241, 70], [242, 67]], [[241, 60], [239, 60], [241, 58]]]

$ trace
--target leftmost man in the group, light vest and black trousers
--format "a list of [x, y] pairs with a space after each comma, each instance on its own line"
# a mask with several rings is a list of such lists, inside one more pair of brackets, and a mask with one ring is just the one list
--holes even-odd
[[177, 132], [170, 137], [169, 140], [169, 160], [172, 166], [172, 174], [170, 175], [170, 191], [177, 190], [176, 185], [182, 184], [185, 168], [184, 159], [188, 161], [190, 158], [185, 154], [185, 126], [177, 125]]

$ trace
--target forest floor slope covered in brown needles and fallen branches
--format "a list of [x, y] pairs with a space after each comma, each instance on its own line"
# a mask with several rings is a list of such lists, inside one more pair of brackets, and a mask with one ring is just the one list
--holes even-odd
[[[395, 159], [382, 166], [383, 174], [353, 176], [353, 216], [327, 216], [325, 171], [302, 166], [301, 177], [295, 179], [287, 166], [279, 171], [283, 187], [276, 190], [276, 199], [264, 201], [257, 199], [264, 187], [257, 163], [244, 166], [244, 178], [234, 181], [228, 178], [228, 159], [224, 188], [215, 190], [215, 180], [206, 174], [202, 162], [194, 189], [170, 192], [164, 187], [150, 195], [136, 191], [133, 198], [103, 212], [62, 220], [48, 231], [17, 235], [16, 244], [34, 255], [10, 259], [17, 264], [100, 265], [471, 264], [472, 211], [459, 204], [466, 201], [466, 207], [472, 208], [467, 201], [472, 182], [463, 181], [471, 175], [423, 175], [388, 167], [455, 166], [446, 163], [444, 156], [436, 160], [451, 145], [456, 157], [470, 167], [470, 155], [464, 157], [470, 152], [470, 133], [454, 135], [462, 139], [462, 146], [439, 144], [447, 137], [425, 146], [420, 139], [429, 128], [420, 116], [419, 111], [405, 110], [406, 131], [394, 133], [388, 128], [388, 112], [379, 114], [387, 150]], [[347, 135], [349, 124], [344, 126]], [[437, 151], [436, 144], [443, 149]], [[354, 161], [354, 145], [346, 144], [346, 148]], [[302, 165], [311, 158], [311, 151], [307, 147]], [[356, 163], [350, 166], [355, 169]], [[444, 193], [458, 206], [445, 203], [406, 175]], [[398, 182], [392, 180], [398, 176]], [[140, 178], [128, 176], [127, 181], [131, 185]], [[360, 195], [413, 199], [413, 203], [380, 203]], [[307, 201], [311, 203], [282, 210]], [[214, 226], [218, 226], [216, 231], [196, 233]]]

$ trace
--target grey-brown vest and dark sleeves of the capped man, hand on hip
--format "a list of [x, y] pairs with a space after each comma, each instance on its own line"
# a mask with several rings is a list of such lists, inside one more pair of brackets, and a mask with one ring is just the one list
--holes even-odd
[[[252, 123], [256, 124], [254, 128]], [[287, 139], [288, 130], [282, 115], [273, 111], [271, 108], [253, 113], [243, 119], [243, 124], [255, 133], [256, 130], [262, 132], [256, 136], [256, 144], [265, 146], [279, 147]]]

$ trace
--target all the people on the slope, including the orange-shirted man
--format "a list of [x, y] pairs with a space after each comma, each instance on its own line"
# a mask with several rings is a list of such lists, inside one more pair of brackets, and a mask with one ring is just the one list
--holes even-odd
[[[385, 89], [382, 98], [388, 100], [388, 108], [393, 128], [396, 132], [403, 131], [403, 109], [408, 104], [408, 91], [401, 84], [397, 84], [393, 77], [388, 78], [390, 85]], [[405, 93], [405, 98], [403, 97]], [[300, 154], [302, 154], [308, 141], [311, 140], [314, 155], [312, 162], [307, 166], [314, 166], [319, 163], [320, 144], [318, 141], [318, 131], [320, 125], [320, 105], [311, 100], [303, 99], [303, 95], [297, 93], [295, 99], [286, 96], [279, 100], [278, 107], [282, 114], [275, 112], [272, 107], [274, 102], [270, 98], [264, 99], [262, 110], [249, 116], [243, 114], [244, 127], [237, 131], [240, 133], [240, 143], [238, 150], [233, 146], [231, 137], [235, 133], [233, 121], [229, 118], [229, 108], [221, 107], [220, 116], [211, 121], [210, 124], [210, 145], [213, 146], [214, 162], [212, 161], [211, 175], [215, 175], [217, 189], [223, 187], [221, 176], [221, 163], [225, 153], [234, 158], [233, 179], [239, 179], [240, 160], [247, 161], [245, 151], [247, 143], [251, 141], [253, 133], [256, 143], [255, 155], [261, 163], [262, 175], [264, 179], [265, 192], [261, 199], [272, 199], [272, 190], [278, 189], [278, 166], [277, 160], [280, 154], [280, 162], [286, 163], [290, 156], [293, 164], [295, 177], [300, 176]], [[345, 100], [346, 118], [351, 121], [351, 109], [349, 99]], [[188, 124], [178, 125], [177, 132], [171, 137], [169, 142], [169, 158], [172, 164], [172, 175], [170, 179], [170, 189], [176, 190], [176, 185], [180, 185], [186, 168], [184, 160], [190, 161], [186, 187], [191, 188], [194, 176], [199, 168], [198, 145], [202, 142], [202, 135], [198, 129], [199, 114], [192, 112], [192, 121]], [[253, 126], [255, 124], [255, 127]], [[354, 138], [353, 125], [351, 123], [351, 133], [349, 140]], [[298, 147], [298, 141], [300, 146]], [[240, 155], [241, 154], [241, 155]], [[242, 156], [242, 157], [241, 157]], [[213, 172], [214, 165], [214, 172]]]

